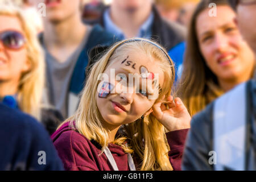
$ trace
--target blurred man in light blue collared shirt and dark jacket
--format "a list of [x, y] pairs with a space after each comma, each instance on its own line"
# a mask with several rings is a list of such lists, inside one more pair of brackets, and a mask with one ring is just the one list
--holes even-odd
[[182, 63], [185, 28], [161, 18], [152, 0], [113, 0], [99, 22], [118, 39], [155, 40], [167, 49], [176, 66]]

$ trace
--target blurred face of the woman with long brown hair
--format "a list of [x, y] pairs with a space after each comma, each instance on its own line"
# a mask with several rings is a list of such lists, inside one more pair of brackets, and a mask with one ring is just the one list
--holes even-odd
[[235, 16], [234, 11], [225, 5], [217, 6], [216, 17], [209, 16], [209, 9], [197, 16], [200, 51], [218, 80], [249, 78], [253, 72], [254, 54], [238, 31]]

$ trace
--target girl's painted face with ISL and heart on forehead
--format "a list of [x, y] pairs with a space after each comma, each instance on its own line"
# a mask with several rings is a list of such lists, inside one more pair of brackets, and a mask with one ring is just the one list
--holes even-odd
[[[115, 72], [114, 80], [110, 78], [113, 70]], [[145, 74], [141, 74], [143, 72]], [[135, 83], [135, 80], [133, 84], [129, 84], [132, 80], [129, 80], [129, 73], [130, 76], [139, 76], [138, 84]], [[116, 57], [112, 64], [106, 68], [104, 74], [110, 78], [110, 81], [106, 78], [104, 85], [98, 85], [100, 91], [96, 95], [97, 106], [105, 122], [114, 126], [134, 122], [149, 111], [158, 97], [157, 94], [152, 99], [149, 94], [152, 96], [152, 90], [159, 93], [164, 82], [164, 73], [159, 68], [158, 62], [153, 57], [148, 57], [144, 53], [136, 51], [129, 51]], [[159, 78], [158, 86], [154, 86], [157, 77]], [[147, 84], [145, 89], [143, 83], [146, 80], [151, 86]], [[127, 83], [127, 87], [123, 83]], [[115, 89], [114, 93], [104, 93], [105, 89], [113, 90], [113, 88]]]

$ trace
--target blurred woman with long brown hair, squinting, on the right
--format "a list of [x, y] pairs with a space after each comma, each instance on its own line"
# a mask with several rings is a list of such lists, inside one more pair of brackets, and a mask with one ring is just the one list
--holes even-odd
[[179, 89], [191, 115], [253, 77], [254, 53], [235, 18], [226, 0], [201, 1], [192, 15]]

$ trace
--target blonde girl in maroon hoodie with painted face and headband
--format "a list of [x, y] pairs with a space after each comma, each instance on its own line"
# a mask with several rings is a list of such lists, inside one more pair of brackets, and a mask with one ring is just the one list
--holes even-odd
[[64, 168], [180, 170], [191, 117], [170, 96], [174, 79], [155, 42], [116, 43], [90, 69], [76, 113], [52, 135]]

